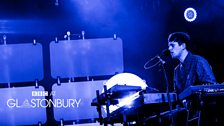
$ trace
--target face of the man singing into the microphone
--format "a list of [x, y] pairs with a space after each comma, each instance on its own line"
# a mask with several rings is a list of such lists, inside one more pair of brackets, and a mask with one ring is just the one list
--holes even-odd
[[172, 41], [168, 42], [168, 49], [170, 51], [170, 55], [172, 58], [180, 58], [183, 49], [185, 48], [185, 44], [179, 45], [178, 42]]

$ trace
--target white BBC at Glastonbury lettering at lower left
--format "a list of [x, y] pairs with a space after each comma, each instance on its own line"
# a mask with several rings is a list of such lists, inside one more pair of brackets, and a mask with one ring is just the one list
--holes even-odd
[[[10, 98], [7, 100], [7, 106], [9, 108], [79, 108], [81, 103], [81, 98], [71, 98], [71, 99], [46, 99], [43, 96], [55, 96], [56, 92], [53, 91], [50, 94], [47, 91], [32, 91], [31, 94], [35, 98], [31, 99], [14, 99]], [[41, 98], [36, 98], [41, 97]]]

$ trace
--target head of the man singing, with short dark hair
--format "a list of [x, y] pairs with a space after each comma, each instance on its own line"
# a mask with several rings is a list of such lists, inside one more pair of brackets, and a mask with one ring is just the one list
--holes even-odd
[[187, 52], [190, 36], [185, 32], [173, 32], [168, 37], [168, 49], [172, 58], [180, 59]]

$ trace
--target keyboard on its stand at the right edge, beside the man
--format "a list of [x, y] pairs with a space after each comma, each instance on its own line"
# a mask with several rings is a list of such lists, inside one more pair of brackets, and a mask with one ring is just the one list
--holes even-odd
[[[202, 84], [190, 86], [179, 94], [179, 99], [184, 101], [187, 108], [187, 124], [194, 120], [198, 126], [201, 124], [201, 113], [205, 107], [221, 108], [218, 111], [223, 111], [224, 105], [224, 84]], [[196, 110], [196, 116], [190, 117], [192, 110]], [[216, 115], [214, 115], [216, 116]], [[209, 120], [209, 119], [208, 119]], [[219, 120], [220, 121], [220, 120]]]

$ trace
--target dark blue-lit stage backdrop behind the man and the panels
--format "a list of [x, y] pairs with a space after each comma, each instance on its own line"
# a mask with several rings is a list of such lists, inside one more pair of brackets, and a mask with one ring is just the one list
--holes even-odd
[[[213, 68], [217, 82], [224, 82], [224, 2], [223, 0], [1, 0], [0, 42], [41, 43], [44, 51], [46, 89], [55, 80], [50, 75], [49, 43], [64, 39], [67, 31], [85, 38], [107, 38], [117, 34], [123, 40], [124, 72], [146, 80], [149, 86], [165, 91], [159, 66], [145, 70], [144, 64], [167, 48], [167, 37], [174, 31], [191, 35], [193, 53], [204, 56]], [[198, 11], [194, 22], [187, 22], [187, 7]], [[73, 37], [72, 39], [77, 39]], [[170, 57], [166, 70], [172, 84], [176, 61]], [[174, 64], [172, 64], [174, 63]], [[49, 110], [50, 111], [50, 110]], [[50, 118], [50, 117], [48, 117]], [[50, 122], [48, 122], [50, 123]]]

